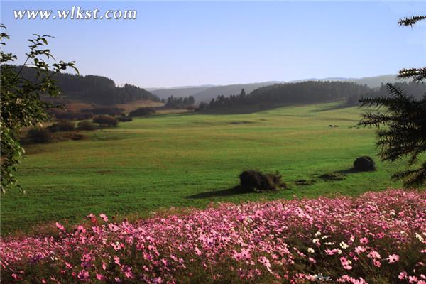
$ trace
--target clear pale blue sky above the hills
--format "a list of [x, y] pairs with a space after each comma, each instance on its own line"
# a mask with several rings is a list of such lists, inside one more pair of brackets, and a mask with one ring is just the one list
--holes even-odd
[[[15, 19], [13, 10], [136, 10], [136, 20]], [[1, 1], [22, 63], [33, 33], [116, 84], [173, 87], [396, 74], [426, 62], [426, 1]]]

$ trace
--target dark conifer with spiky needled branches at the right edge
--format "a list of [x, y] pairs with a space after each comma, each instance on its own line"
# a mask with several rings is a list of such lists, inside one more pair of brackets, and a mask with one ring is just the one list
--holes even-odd
[[[400, 26], [413, 26], [426, 16], [403, 18]], [[426, 80], [426, 67], [402, 69], [398, 77], [412, 79], [417, 84]], [[408, 158], [408, 169], [393, 174], [394, 180], [403, 180], [405, 186], [426, 183], [426, 160], [420, 162], [426, 152], [426, 93], [422, 99], [415, 99], [402, 87], [387, 84], [390, 96], [361, 99], [361, 105], [383, 107], [384, 113], [367, 113], [359, 124], [376, 126], [378, 131], [378, 154], [382, 160], [391, 162]], [[380, 126], [387, 126], [380, 129]], [[417, 163], [420, 165], [417, 166]], [[417, 168], [416, 168], [417, 167]]]

